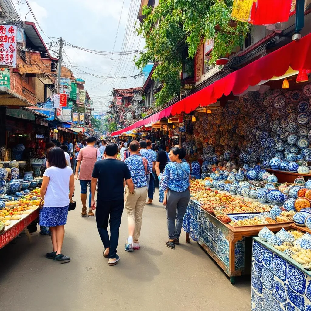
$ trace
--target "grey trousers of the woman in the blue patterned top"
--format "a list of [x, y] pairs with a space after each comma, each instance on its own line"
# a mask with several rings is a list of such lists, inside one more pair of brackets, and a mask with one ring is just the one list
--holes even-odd
[[190, 199], [190, 192], [188, 189], [183, 192], [176, 192], [169, 189], [166, 198], [167, 231], [169, 239], [179, 239], [181, 227], [183, 225], [183, 216], [185, 216]]

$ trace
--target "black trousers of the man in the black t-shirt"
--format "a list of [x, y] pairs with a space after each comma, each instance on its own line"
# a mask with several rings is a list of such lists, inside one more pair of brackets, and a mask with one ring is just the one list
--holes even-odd
[[[115, 201], [97, 200], [95, 213], [96, 225], [100, 239], [104, 244], [104, 248], [109, 247], [109, 258], [115, 258], [117, 254], [119, 228], [122, 219], [123, 207], [123, 199]], [[110, 227], [110, 239], [107, 231], [108, 221]]]

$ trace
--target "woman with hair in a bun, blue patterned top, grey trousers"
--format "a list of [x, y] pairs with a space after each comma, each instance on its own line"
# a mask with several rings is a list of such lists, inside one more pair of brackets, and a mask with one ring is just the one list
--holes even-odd
[[[167, 230], [169, 241], [166, 246], [175, 249], [179, 244], [183, 216], [190, 199], [190, 166], [182, 161], [186, 156], [184, 148], [174, 147], [169, 152], [171, 162], [166, 164], [160, 188], [165, 191], [163, 204], [166, 205]], [[176, 220], [176, 225], [175, 225]]]

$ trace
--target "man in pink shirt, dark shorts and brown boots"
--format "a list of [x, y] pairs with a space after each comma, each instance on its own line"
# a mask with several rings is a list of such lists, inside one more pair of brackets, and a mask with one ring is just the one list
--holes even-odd
[[[87, 138], [87, 145], [84, 148], [81, 148], [79, 154], [77, 156], [77, 167], [75, 179], [79, 179], [81, 185], [81, 202], [82, 202], [82, 213], [81, 217], [94, 217], [94, 213], [91, 209], [91, 187], [89, 194], [89, 212], [86, 215], [86, 193], [87, 193], [87, 185], [91, 183], [92, 180], [92, 172], [96, 161], [100, 160], [100, 151], [95, 148], [96, 138], [94, 136], [90, 136]], [[79, 173], [80, 169], [80, 173]]]

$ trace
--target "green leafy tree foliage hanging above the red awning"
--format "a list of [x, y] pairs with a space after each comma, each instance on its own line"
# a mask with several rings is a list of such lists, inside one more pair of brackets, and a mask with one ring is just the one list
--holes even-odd
[[137, 28], [146, 41], [146, 52], [135, 58], [138, 68], [153, 61], [159, 65], [152, 79], [163, 82], [156, 96], [156, 105], [164, 105], [179, 96], [182, 64], [193, 76], [193, 58], [198, 47], [207, 39], [214, 39], [210, 63], [242, 46], [248, 24], [237, 22], [231, 27], [232, 0], [160, 0], [152, 12], [143, 7], [146, 18]]

